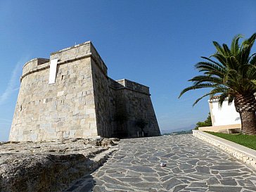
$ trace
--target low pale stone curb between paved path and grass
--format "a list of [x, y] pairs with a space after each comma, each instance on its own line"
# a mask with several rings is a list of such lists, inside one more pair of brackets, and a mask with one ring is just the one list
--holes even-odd
[[226, 139], [219, 138], [212, 134], [207, 134], [198, 130], [192, 130], [193, 136], [196, 136], [198, 139], [206, 141], [223, 151], [233, 155], [234, 158], [245, 162], [248, 165], [256, 168], [256, 151], [245, 146], [241, 146], [237, 143], [233, 143]]

